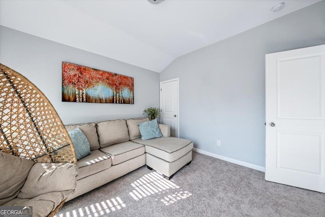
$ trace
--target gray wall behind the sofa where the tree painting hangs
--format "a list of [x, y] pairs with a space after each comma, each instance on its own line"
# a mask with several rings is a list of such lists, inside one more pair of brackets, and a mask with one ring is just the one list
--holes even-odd
[[[134, 77], [134, 105], [61, 102], [62, 61]], [[159, 107], [159, 74], [0, 26], [0, 62], [38, 86], [63, 123], [144, 116]]]

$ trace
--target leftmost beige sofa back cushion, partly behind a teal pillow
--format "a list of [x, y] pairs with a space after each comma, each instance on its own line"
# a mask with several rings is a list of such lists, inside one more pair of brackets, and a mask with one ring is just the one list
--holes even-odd
[[83, 134], [87, 137], [87, 140], [90, 145], [90, 150], [95, 150], [100, 148], [100, 143], [98, 141], [97, 131], [96, 131], [96, 123], [84, 123], [84, 124], [76, 124], [76, 125], [65, 125], [67, 131], [72, 131], [76, 128], [79, 128]]

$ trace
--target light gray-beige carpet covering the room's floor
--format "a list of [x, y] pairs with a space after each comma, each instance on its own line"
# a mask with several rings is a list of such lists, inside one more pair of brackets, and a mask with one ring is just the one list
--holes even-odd
[[56, 216], [325, 216], [325, 194], [193, 152], [166, 180], [142, 167], [67, 202]]

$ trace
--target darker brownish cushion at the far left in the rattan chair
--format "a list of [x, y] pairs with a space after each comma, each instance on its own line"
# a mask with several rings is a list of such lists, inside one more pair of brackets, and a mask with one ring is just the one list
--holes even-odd
[[0, 206], [17, 197], [35, 163], [0, 152]]

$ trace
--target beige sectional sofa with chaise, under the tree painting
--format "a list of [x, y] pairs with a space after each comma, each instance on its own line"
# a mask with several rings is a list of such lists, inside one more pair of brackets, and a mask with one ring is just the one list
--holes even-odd
[[90, 145], [91, 154], [77, 162], [75, 193], [68, 200], [89, 192], [144, 165], [170, 179], [192, 160], [193, 143], [173, 138], [170, 126], [159, 124], [163, 137], [142, 140], [138, 123], [148, 118], [108, 120], [66, 125], [79, 128]]

